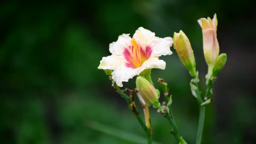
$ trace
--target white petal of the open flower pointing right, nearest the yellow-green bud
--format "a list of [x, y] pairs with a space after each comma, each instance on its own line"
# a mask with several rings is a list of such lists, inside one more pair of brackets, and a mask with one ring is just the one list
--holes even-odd
[[159, 38], [157, 37], [154, 42], [152, 42], [152, 54], [151, 56], [165, 56], [171, 55], [173, 52], [170, 47], [173, 45], [173, 39], [171, 37]]

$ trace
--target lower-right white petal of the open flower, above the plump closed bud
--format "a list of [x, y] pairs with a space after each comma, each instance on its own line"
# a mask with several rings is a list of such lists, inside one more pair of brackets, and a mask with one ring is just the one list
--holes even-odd
[[165, 61], [160, 60], [158, 57], [150, 57], [142, 64], [141, 69], [165, 69], [165, 65]]

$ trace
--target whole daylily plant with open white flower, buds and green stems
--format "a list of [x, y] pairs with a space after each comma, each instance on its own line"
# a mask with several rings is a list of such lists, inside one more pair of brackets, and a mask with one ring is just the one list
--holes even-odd
[[[157, 109], [162, 115], [167, 118], [171, 125], [171, 133], [179, 144], [187, 144], [186, 141], [179, 135], [177, 125], [171, 112], [172, 96], [169, 93], [167, 83], [159, 78], [165, 101], [161, 104], [159, 101], [160, 91], [154, 87], [151, 79], [151, 69], [165, 69], [165, 61], [160, 60], [160, 56], [171, 55], [170, 47], [172, 44], [181, 60], [182, 64], [189, 70], [193, 77], [190, 81], [192, 95], [195, 96], [200, 107], [200, 120], [197, 129], [197, 144], [201, 143], [203, 133], [203, 119], [205, 114], [205, 105], [211, 102], [213, 81], [216, 80], [216, 75], [219, 74], [227, 61], [226, 53], [219, 55], [219, 43], [217, 40], [217, 16], [213, 19], [201, 18], [198, 20], [203, 32], [203, 52], [205, 61], [208, 65], [208, 74], [205, 76], [207, 89], [205, 96], [201, 94], [198, 83], [199, 72], [196, 70], [196, 61], [189, 38], [183, 31], [174, 32], [173, 39], [171, 37], [156, 37], [154, 32], [151, 32], [143, 27], [136, 30], [133, 37], [130, 34], [120, 35], [116, 42], [109, 44], [109, 52], [112, 54], [103, 57], [100, 61], [98, 69], [104, 69], [113, 80], [113, 87], [123, 98], [128, 102], [134, 115], [136, 115], [142, 128], [147, 135], [148, 144], [152, 142], [152, 127], [149, 117], [149, 106]], [[129, 79], [136, 77], [136, 88], [130, 90], [125, 88], [121, 90], [123, 82], [128, 82]], [[128, 93], [128, 95], [126, 95]], [[145, 123], [141, 120], [139, 112], [136, 109], [134, 102], [134, 93], [139, 98], [141, 107], [144, 110]], [[149, 106], [148, 106], [149, 105]]]

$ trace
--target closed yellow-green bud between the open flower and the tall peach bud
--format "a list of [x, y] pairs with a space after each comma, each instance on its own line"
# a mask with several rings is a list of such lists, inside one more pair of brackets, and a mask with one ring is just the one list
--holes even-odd
[[174, 32], [173, 41], [173, 45], [176, 52], [178, 53], [179, 59], [189, 70], [192, 77], [196, 77], [195, 56], [187, 35], [185, 35], [185, 33], [181, 30], [179, 33]]

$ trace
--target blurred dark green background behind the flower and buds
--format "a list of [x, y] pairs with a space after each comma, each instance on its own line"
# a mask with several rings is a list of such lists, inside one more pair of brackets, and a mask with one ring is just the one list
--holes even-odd
[[[144, 143], [144, 131], [104, 71], [97, 69], [99, 61], [110, 55], [109, 43], [122, 33], [133, 35], [144, 27], [158, 37], [172, 37], [182, 29], [194, 49], [204, 90], [207, 66], [197, 19], [214, 13], [220, 52], [228, 59], [206, 108], [203, 144], [255, 144], [256, 13], [249, 0], [1, 2], [1, 143]], [[158, 77], [168, 82], [179, 131], [192, 144], [197, 100], [190, 93], [191, 77], [171, 50], [173, 55], [161, 57], [166, 69], [152, 70], [152, 79], [157, 88]], [[135, 87], [134, 79], [124, 84]], [[150, 110], [154, 141], [176, 143], [168, 121]]]

